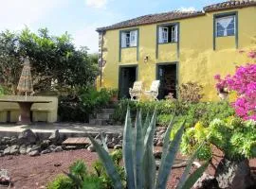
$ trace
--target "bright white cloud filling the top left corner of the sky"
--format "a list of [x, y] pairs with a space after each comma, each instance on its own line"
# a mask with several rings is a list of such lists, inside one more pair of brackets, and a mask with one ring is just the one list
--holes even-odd
[[21, 29], [42, 19], [49, 10], [63, 4], [62, 0], [1, 0], [0, 30]]

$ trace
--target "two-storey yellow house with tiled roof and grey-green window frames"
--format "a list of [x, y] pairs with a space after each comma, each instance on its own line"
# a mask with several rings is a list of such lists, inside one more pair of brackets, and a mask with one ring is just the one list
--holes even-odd
[[237, 65], [249, 62], [240, 52], [256, 48], [256, 1], [150, 14], [97, 31], [99, 87], [118, 88], [119, 97], [129, 97], [135, 80], [147, 90], [159, 79], [158, 98], [163, 98], [178, 96], [178, 86], [192, 81], [204, 87], [204, 100], [214, 100], [214, 75], [233, 74]]

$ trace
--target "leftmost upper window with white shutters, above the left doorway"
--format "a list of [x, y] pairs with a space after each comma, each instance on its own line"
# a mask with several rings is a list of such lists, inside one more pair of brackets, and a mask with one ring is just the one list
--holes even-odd
[[137, 30], [121, 32], [121, 47], [137, 46]]

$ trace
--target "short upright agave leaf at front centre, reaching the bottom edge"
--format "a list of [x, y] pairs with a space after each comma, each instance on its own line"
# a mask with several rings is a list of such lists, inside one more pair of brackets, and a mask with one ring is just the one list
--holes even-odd
[[144, 154], [144, 188], [155, 189], [155, 157], [150, 146], [146, 146]]

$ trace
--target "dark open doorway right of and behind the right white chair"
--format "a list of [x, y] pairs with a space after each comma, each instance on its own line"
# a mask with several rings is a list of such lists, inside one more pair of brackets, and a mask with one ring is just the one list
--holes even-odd
[[156, 79], [160, 80], [159, 99], [164, 99], [170, 93], [177, 97], [177, 63], [157, 64]]

